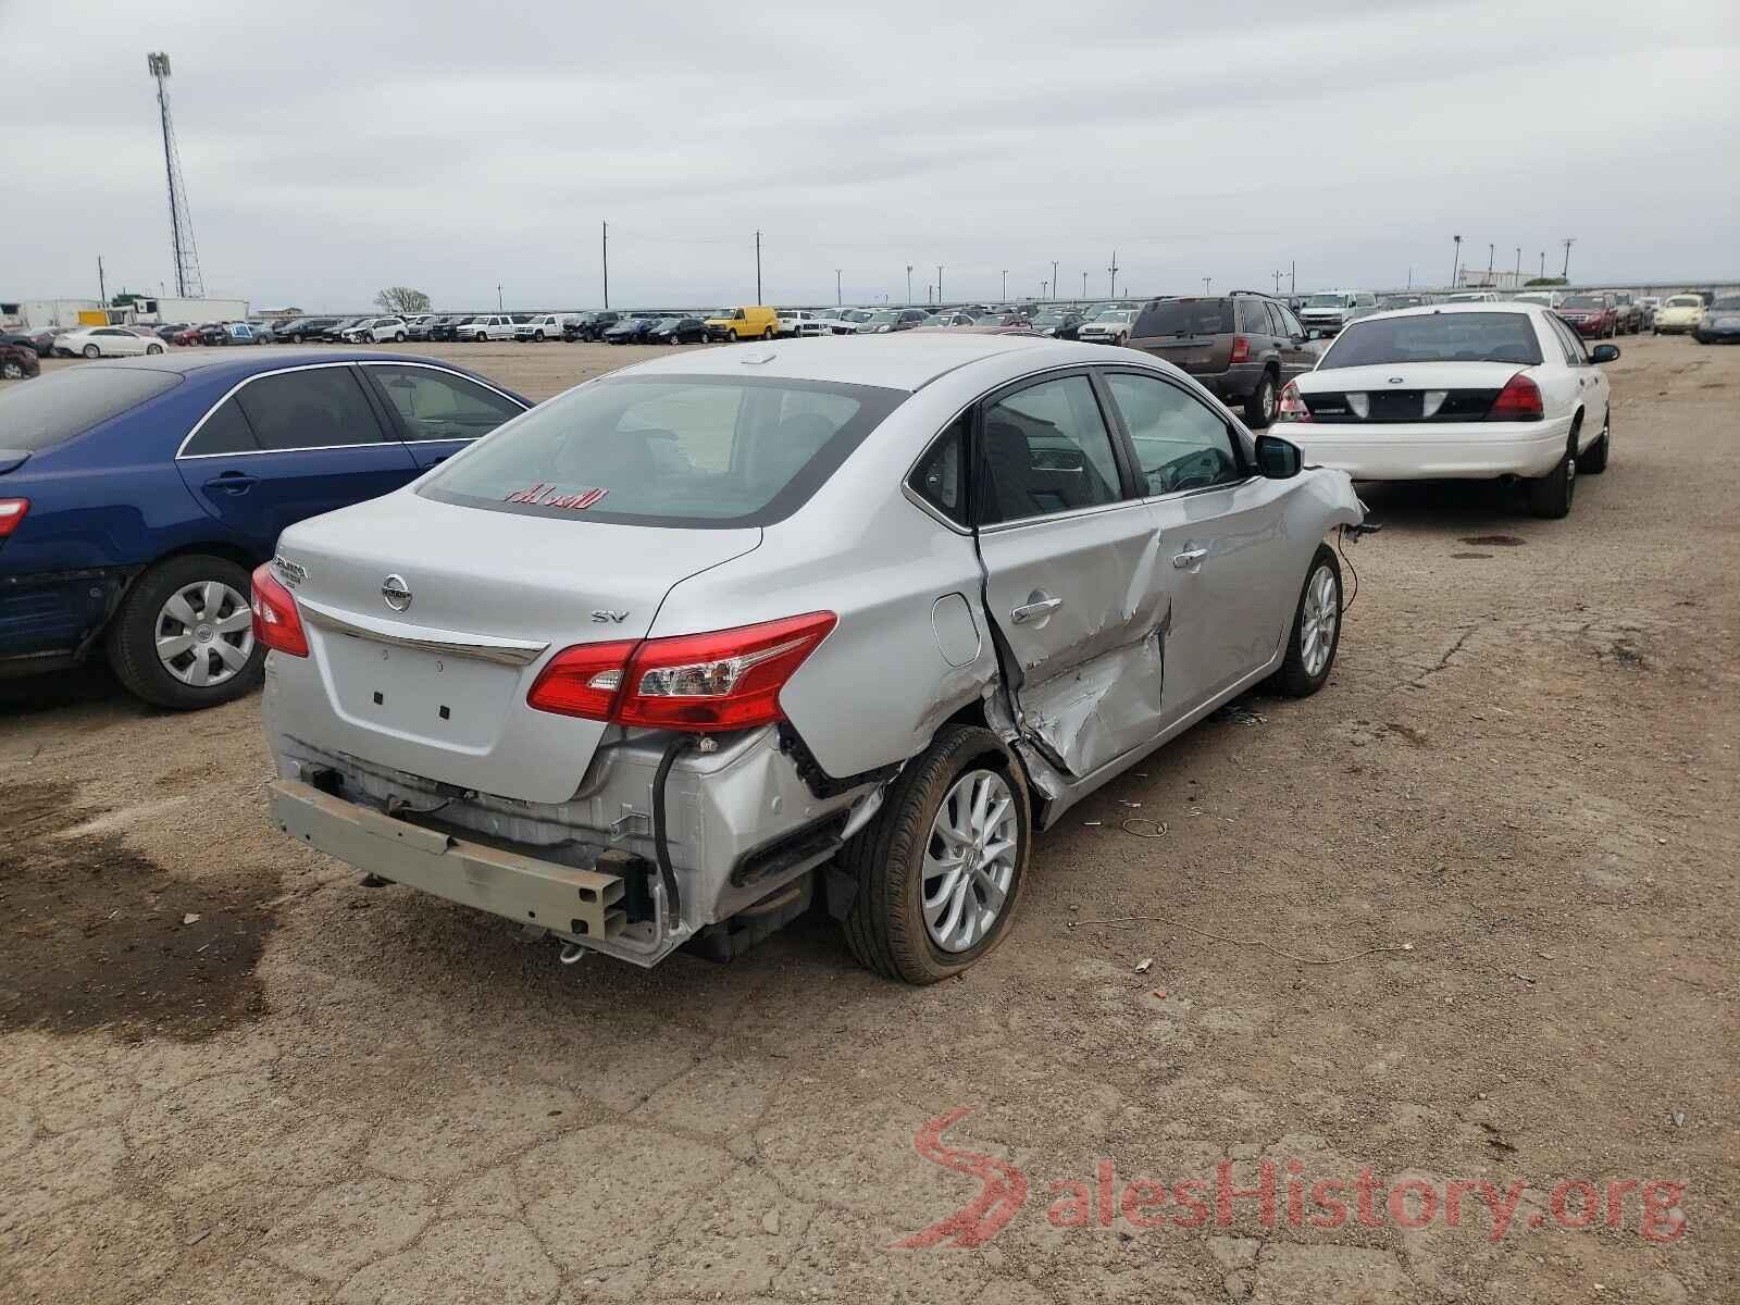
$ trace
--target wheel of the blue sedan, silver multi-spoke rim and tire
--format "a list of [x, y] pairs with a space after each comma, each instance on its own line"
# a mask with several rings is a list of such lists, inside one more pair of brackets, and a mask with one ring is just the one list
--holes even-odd
[[254, 642], [247, 571], [223, 557], [186, 555], [134, 581], [115, 612], [115, 675], [148, 703], [188, 712], [240, 698], [264, 673]]

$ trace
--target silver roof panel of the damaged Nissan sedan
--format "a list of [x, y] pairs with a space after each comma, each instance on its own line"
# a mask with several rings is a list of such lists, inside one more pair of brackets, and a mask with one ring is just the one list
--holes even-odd
[[[616, 374], [632, 371], [639, 376], [778, 376], [788, 381], [919, 390], [957, 367], [1020, 350], [1034, 350], [1035, 365], [1096, 362], [1107, 355], [1107, 350], [1054, 341], [1049, 336], [891, 331], [882, 336], [820, 336], [773, 345], [734, 345], [705, 353], [652, 358]], [[1056, 357], [1039, 357], [1041, 353]], [[1119, 350], [1115, 357], [1128, 357], [1128, 350]]]

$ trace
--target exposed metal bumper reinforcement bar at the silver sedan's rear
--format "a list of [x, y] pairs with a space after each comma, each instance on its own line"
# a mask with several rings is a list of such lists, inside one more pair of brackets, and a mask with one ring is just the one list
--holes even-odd
[[619, 938], [628, 922], [619, 875], [456, 839], [296, 780], [273, 781], [270, 793], [280, 830], [405, 887], [593, 941]]

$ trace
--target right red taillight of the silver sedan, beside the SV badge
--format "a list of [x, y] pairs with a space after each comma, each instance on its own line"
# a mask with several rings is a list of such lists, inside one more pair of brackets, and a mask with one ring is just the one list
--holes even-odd
[[809, 612], [706, 635], [579, 644], [550, 658], [525, 701], [647, 729], [769, 726], [785, 719], [780, 691], [837, 621]]

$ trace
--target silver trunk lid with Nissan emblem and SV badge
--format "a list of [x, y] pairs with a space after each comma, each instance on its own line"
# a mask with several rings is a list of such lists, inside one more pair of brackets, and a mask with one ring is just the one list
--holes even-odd
[[527, 706], [543, 663], [644, 637], [677, 581], [759, 543], [759, 529], [531, 517], [411, 492], [292, 525], [278, 574], [294, 579], [310, 658], [277, 670], [296, 680], [287, 729], [428, 780], [562, 802], [612, 727]]

